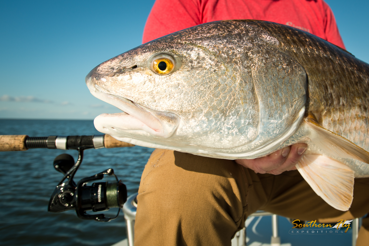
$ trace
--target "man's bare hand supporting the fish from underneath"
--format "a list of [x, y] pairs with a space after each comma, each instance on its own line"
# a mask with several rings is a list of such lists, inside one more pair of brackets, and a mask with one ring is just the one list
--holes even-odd
[[277, 150], [268, 156], [256, 159], [237, 159], [234, 161], [254, 170], [255, 173], [271, 173], [277, 175], [284, 171], [296, 170], [295, 165], [301, 159], [306, 148], [307, 145], [305, 143], [297, 143]]

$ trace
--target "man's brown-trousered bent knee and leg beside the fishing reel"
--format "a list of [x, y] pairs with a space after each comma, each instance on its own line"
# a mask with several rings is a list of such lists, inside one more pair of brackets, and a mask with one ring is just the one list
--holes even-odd
[[158, 150], [141, 179], [135, 230], [160, 228], [172, 242], [178, 235], [230, 241], [244, 215], [245, 186], [242, 167], [231, 160]]

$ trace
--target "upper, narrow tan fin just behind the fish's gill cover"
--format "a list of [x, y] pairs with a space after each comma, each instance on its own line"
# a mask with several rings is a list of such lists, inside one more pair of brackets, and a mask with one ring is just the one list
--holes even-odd
[[337, 157], [352, 158], [369, 164], [369, 153], [348, 139], [322, 127], [313, 116], [305, 118], [311, 130], [309, 138], [324, 152]]

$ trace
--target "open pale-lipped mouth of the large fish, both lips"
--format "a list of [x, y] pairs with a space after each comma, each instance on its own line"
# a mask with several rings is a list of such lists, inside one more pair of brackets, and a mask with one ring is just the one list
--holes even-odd
[[144, 131], [161, 138], [169, 138], [178, 128], [180, 117], [176, 114], [152, 110], [124, 97], [101, 91], [90, 90], [90, 92], [93, 96], [123, 111], [97, 116], [94, 119], [94, 125], [99, 132], [113, 137], [125, 137], [127, 134]]

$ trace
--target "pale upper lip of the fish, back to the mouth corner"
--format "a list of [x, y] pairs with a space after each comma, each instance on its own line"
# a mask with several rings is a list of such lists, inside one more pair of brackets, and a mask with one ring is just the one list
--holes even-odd
[[[142, 124], [147, 126], [145, 127], [146, 129], [145, 131], [151, 135], [159, 136], [162, 138], [169, 138], [170, 136], [173, 135], [173, 133], [176, 131], [179, 125], [180, 117], [176, 114], [152, 110], [141, 104], [135, 103], [127, 98], [113, 94], [107, 94], [102, 91], [90, 90], [90, 92], [93, 96], [99, 98], [100, 100], [105, 101], [111, 105], [114, 105], [115, 107], [119, 108], [126, 114], [129, 114], [132, 117], [141, 121]], [[165, 118], [161, 117], [161, 115], [163, 114], [169, 116], [170, 121], [166, 122]], [[97, 116], [95, 119], [98, 119], [99, 117], [100, 118], [104, 117], [104, 115], [106, 114], [101, 114]], [[116, 116], [119, 117], [119, 114], [116, 114]]]

